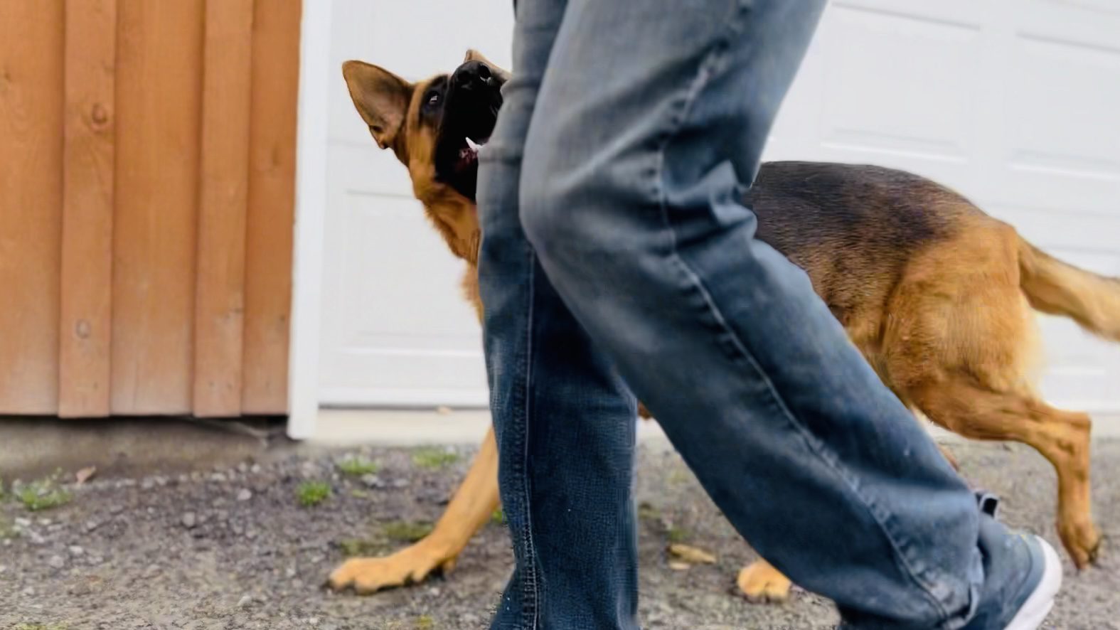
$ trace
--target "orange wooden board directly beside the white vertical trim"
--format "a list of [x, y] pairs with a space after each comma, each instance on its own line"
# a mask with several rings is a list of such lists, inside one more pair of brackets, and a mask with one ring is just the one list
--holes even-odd
[[245, 344], [242, 410], [288, 410], [299, 87], [298, 0], [256, 0], [245, 244]]

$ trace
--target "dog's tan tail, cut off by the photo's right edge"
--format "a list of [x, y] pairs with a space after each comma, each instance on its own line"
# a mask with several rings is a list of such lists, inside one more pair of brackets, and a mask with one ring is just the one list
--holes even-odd
[[1019, 285], [1036, 310], [1120, 341], [1120, 279], [1063, 263], [1019, 237]]

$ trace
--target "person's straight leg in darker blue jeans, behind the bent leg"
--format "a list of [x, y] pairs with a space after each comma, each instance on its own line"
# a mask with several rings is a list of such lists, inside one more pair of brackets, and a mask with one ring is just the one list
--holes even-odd
[[636, 404], [536, 264], [517, 217], [525, 134], [562, 0], [522, 0], [513, 78], [480, 154], [479, 289], [516, 567], [494, 628], [637, 628]]

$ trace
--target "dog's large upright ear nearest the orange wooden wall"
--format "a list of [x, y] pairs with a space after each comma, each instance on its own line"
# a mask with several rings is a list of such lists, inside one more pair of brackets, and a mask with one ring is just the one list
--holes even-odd
[[404, 124], [412, 84], [384, 68], [356, 60], [343, 64], [343, 78], [377, 145], [391, 145]]

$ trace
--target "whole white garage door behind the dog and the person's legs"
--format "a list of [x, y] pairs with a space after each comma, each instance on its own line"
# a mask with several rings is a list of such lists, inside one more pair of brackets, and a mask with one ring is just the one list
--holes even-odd
[[[336, 0], [334, 60], [419, 78], [476, 47], [508, 67], [510, 4]], [[404, 169], [372, 145], [340, 73], [333, 90], [321, 399], [483, 405], [461, 265]], [[1051, 253], [1120, 275], [1120, 2], [833, 2], [766, 158], [925, 175]], [[1120, 411], [1120, 347], [1064, 320], [1043, 330], [1047, 397]]]

